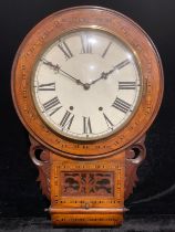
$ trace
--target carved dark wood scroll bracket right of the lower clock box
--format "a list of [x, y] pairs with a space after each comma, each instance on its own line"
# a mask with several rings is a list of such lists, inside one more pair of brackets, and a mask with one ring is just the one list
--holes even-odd
[[126, 149], [125, 165], [125, 200], [133, 193], [133, 188], [138, 181], [137, 168], [146, 157], [146, 148], [144, 145], [145, 135], [134, 145]]

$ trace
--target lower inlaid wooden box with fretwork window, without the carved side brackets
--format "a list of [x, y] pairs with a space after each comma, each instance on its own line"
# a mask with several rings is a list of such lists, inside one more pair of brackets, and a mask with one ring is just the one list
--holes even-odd
[[[50, 160], [51, 207], [49, 211], [53, 224], [94, 226], [122, 223], [125, 211], [125, 151], [110, 158], [89, 161], [68, 159], [50, 152]], [[66, 194], [64, 193], [65, 173], [69, 173], [71, 183]], [[93, 173], [97, 175], [94, 177]], [[104, 178], [105, 176], [107, 179]], [[102, 181], [105, 184], [102, 184]], [[103, 191], [96, 191], [97, 188]], [[76, 191], [73, 191], [74, 189]], [[94, 191], [93, 194], [91, 190]]]

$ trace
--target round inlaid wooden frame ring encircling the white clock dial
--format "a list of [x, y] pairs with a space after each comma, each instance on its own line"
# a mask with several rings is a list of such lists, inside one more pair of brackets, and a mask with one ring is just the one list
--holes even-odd
[[[72, 140], [58, 135], [39, 116], [31, 93], [33, 66], [55, 38], [78, 29], [101, 29], [120, 38], [134, 52], [142, 71], [140, 105], [117, 133], [94, 141]], [[109, 156], [136, 141], [151, 126], [163, 96], [163, 70], [158, 53], [147, 34], [127, 17], [99, 7], [59, 11], [42, 20], [20, 45], [12, 68], [12, 96], [23, 125], [47, 148], [63, 156]]]

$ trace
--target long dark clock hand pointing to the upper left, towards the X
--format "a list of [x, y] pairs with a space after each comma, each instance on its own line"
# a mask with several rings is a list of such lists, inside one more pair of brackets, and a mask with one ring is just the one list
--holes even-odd
[[58, 73], [62, 74], [65, 77], [71, 78], [72, 81], [74, 81], [78, 85], [82, 85], [84, 87], [84, 83], [82, 83], [80, 80], [75, 78], [74, 76], [70, 75], [69, 73], [66, 73], [65, 71], [61, 70], [59, 64], [53, 64], [50, 61], [47, 61], [44, 59], [41, 60], [43, 62], [43, 64], [50, 66], [51, 68], [53, 68], [54, 71], [56, 71]]

